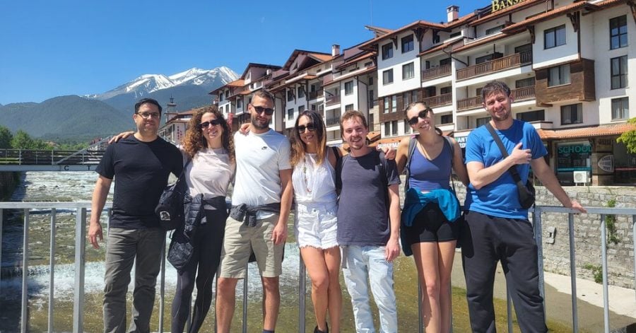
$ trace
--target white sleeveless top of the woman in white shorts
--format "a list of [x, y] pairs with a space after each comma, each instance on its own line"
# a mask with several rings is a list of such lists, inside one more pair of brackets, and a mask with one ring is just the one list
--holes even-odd
[[[329, 153], [327, 154], [329, 156]], [[294, 166], [292, 182], [294, 197], [299, 203], [325, 203], [336, 201], [336, 170], [325, 158], [317, 164], [317, 154], [305, 153], [305, 158]]]

